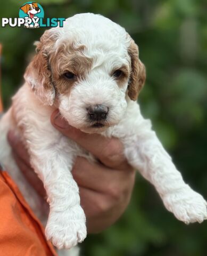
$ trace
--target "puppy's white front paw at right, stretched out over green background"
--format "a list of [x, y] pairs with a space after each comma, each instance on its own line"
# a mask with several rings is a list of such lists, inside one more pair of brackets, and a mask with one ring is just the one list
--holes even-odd
[[186, 224], [201, 223], [207, 219], [207, 203], [205, 199], [189, 186], [183, 191], [165, 196], [164, 205], [175, 214], [178, 220]]

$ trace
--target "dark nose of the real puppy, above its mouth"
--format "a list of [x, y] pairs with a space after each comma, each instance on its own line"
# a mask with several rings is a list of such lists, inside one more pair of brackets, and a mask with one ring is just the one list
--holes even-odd
[[103, 105], [94, 105], [87, 108], [91, 121], [103, 121], [107, 117], [109, 108]]

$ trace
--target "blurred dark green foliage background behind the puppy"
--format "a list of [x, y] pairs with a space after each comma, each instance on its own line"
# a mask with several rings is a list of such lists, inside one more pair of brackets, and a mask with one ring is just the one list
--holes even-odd
[[[25, 0], [24, 0], [25, 1]], [[24, 1], [1, 2], [0, 17], [18, 17]], [[101, 13], [127, 29], [147, 69], [140, 93], [143, 114], [153, 121], [187, 183], [207, 198], [207, 1], [42, 0], [46, 17]], [[0, 28], [4, 105], [22, 83], [44, 29]], [[154, 188], [137, 175], [121, 219], [81, 245], [86, 256], [207, 255], [207, 221], [186, 226], [164, 209]]]

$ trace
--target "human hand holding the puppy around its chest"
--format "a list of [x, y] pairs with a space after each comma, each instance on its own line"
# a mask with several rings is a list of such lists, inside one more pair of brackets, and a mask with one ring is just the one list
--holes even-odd
[[[133, 190], [135, 171], [123, 156], [118, 139], [99, 134], [86, 134], [70, 126], [55, 110], [51, 116], [54, 127], [92, 153], [100, 163], [89, 163], [77, 157], [72, 174], [79, 186], [80, 201], [87, 219], [88, 233], [98, 233], [111, 226], [125, 211]], [[8, 135], [14, 158], [20, 170], [41, 196], [45, 196], [43, 183], [29, 163], [29, 155], [19, 138]]]

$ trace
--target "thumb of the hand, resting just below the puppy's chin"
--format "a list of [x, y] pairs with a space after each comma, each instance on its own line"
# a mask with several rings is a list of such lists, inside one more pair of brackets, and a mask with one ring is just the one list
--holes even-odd
[[100, 134], [88, 134], [70, 126], [67, 121], [55, 110], [51, 116], [54, 127], [81, 147], [88, 150], [100, 161], [111, 168], [129, 169], [123, 155], [122, 143], [117, 138], [105, 138]]

